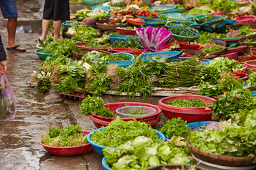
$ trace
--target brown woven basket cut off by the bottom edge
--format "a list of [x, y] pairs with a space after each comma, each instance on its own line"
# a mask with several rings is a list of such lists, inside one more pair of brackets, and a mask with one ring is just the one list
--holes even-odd
[[[161, 165], [156, 165], [156, 166], [151, 166], [147, 168], [146, 170], [163, 170], [163, 169], [190, 169], [191, 165], [185, 165], [185, 164], [161, 164]], [[196, 167], [196, 170], [207, 170], [205, 168], [201, 167]]]

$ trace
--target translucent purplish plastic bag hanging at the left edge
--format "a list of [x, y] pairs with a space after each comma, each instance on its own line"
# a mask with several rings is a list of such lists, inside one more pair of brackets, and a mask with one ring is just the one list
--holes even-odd
[[1, 75], [0, 79], [0, 118], [14, 119], [17, 108], [14, 91], [5, 74]]

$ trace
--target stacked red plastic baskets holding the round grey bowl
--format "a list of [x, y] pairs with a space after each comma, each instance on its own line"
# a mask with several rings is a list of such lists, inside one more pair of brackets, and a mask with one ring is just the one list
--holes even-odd
[[[158, 106], [151, 105], [149, 103], [138, 103], [138, 102], [108, 103], [108, 104], [105, 104], [105, 108], [110, 108], [110, 111], [116, 113], [117, 108], [124, 107], [124, 105], [147, 106], [147, 107], [155, 108], [156, 113], [154, 115], [137, 117], [135, 119], [140, 122], [145, 122], [146, 124], [149, 124], [152, 127], [154, 127], [156, 125], [156, 123], [159, 123], [159, 121], [160, 121], [161, 109]], [[89, 118], [90, 118], [90, 120], [93, 121], [93, 123], [95, 124], [95, 126], [97, 128], [101, 128], [102, 126], [107, 126], [112, 120], [114, 120], [114, 118], [102, 117], [100, 115], [95, 115], [93, 113], [90, 113]], [[121, 119], [124, 121], [129, 121], [129, 120], [133, 120], [134, 118], [121, 118]]]

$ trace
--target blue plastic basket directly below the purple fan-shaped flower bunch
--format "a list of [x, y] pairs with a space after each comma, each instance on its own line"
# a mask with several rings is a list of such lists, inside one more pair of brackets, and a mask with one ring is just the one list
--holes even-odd
[[[181, 52], [179, 51], [169, 51], [169, 52], [153, 52], [153, 53], [144, 53], [142, 55], [142, 59], [146, 60], [146, 57], [156, 57], [158, 55], [160, 58], [167, 58], [168, 60], [171, 60], [172, 62], [176, 62], [178, 58], [181, 55]], [[152, 60], [154, 61], [154, 60]]]

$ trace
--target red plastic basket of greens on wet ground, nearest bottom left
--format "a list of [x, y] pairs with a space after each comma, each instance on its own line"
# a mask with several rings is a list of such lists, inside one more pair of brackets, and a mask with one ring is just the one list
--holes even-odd
[[[82, 130], [83, 135], [89, 134], [90, 130]], [[43, 145], [42, 142], [40, 142], [40, 145], [46, 149], [47, 152], [50, 154], [56, 155], [56, 156], [64, 156], [64, 157], [69, 157], [69, 156], [76, 156], [80, 154], [85, 154], [87, 152], [91, 152], [93, 150], [92, 145], [90, 143], [85, 144], [85, 145], [80, 145], [80, 146], [75, 146], [75, 147], [49, 147], [47, 145]]]

